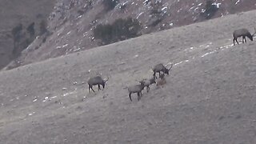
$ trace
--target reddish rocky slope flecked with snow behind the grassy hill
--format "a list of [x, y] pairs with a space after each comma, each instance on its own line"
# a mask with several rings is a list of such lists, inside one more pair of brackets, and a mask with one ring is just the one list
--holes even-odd
[[[111, 2], [115, 2], [114, 5]], [[207, 2], [210, 4], [207, 5]], [[142, 25], [140, 33], [150, 34], [228, 14], [254, 10], [255, 3], [254, 0], [57, 0], [54, 10], [48, 17], [46, 33], [38, 32], [29, 39], [26, 39], [29, 37], [29, 34], [26, 34], [26, 38], [15, 45], [18, 49], [14, 51], [14, 55], [9, 54], [13, 46], [10, 43], [14, 43], [13, 39], [9, 38], [5, 42], [3, 46], [10, 48], [6, 49], [9, 50], [6, 54], [9, 59], [4, 63], [6, 65], [10, 62], [10, 58], [14, 61], [4, 70], [101, 46], [100, 40], [94, 38], [93, 30], [98, 24], [111, 24], [118, 18], [138, 19]], [[45, 13], [49, 14], [49, 10]], [[6, 34], [4, 36], [8, 37]], [[36, 39], [31, 41], [34, 38]], [[32, 43], [27, 46], [30, 42]]]

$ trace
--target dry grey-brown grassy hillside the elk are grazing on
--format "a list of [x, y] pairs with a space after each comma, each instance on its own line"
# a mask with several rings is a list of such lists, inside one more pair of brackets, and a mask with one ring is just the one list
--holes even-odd
[[[256, 44], [231, 40], [255, 12], [2, 71], [0, 143], [255, 143]], [[166, 86], [130, 102], [158, 62], [174, 62]], [[96, 73], [110, 80], [88, 93]]]

